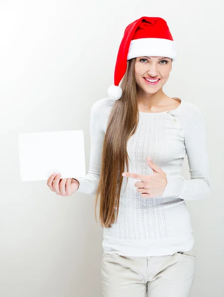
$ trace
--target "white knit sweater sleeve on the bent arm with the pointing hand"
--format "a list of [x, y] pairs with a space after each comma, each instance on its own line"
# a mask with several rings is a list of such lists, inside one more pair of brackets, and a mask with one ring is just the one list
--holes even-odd
[[190, 180], [167, 175], [168, 183], [162, 197], [202, 200], [210, 195], [209, 158], [204, 117], [196, 105], [194, 112], [185, 122], [185, 148]]

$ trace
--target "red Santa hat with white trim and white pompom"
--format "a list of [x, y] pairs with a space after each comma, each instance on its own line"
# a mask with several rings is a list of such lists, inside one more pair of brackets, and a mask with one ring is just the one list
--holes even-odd
[[176, 59], [176, 45], [163, 18], [142, 16], [126, 27], [117, 54], [114, 85], [108, 88], [108, 95], [113, 100], [122, 96], [122, 89], [118, 85], [126, 72], [127, 61], [139, 56]]

